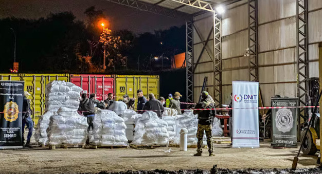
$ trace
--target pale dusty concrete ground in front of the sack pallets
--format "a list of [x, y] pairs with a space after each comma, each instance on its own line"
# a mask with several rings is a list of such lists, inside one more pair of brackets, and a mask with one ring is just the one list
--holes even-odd
[[[174, 147], [155, 149], [55, 149], [48, 147], [19, 150], [0, 150], [0, 173], [84, 173], [153, 169], [210, 169], [219, 168], [290, 168], [298, 148], [273, 149], [270, 142], [260, 148], [230, 148], [216, 144], [215, 157], [193, 157], [195, 149], [180, 151]], [[171, 148], [171, 153], [165, 151]], [[300, 156], [298, 167], [316, 166], [317, 156]]]

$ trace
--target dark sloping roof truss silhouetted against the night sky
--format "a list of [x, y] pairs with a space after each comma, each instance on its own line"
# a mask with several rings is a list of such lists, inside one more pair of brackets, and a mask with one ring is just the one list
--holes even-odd
[[149, 4], [149, 3], [144, 3], [144, 2], [136, 1], [136, 0], [105, 0], [105, 1], [128, 6], [128, 7], [132, 7], [132, 8], [141, 10], [141, 11], [147, 11], [147, 12], [160, 14], [160, 15], [167, 16], [167, 17], [172, 17], [172, 18], [177, 18], [177, 17], [178, 18], [186, 18], [187, 16], [189, 16], [189, 14], [187, 14], [187, 13], [178, 12], [178, 11], [175, 11], [172, 9], [158, 6], [157, 3], [156, 4]]

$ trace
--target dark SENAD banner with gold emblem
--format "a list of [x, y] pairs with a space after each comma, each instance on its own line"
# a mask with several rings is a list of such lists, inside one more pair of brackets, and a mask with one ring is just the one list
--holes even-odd
[[23, 96], [23, 81], [0, 81], [0, 149], [22, 148]]

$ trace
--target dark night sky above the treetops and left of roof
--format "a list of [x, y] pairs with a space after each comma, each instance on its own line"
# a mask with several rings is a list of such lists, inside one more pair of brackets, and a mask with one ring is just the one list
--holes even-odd
[[0, 18], [39, 18], [50, 12], [71, 11], [78, 20], [84, 20], [84, 11], [91, 6], [98, 10], [104, 9], [112, 30], [128, 29], [134, 33], [144, 33], [185, 24], [183, 19], [140, 11], [104, 0], [0, 0]]

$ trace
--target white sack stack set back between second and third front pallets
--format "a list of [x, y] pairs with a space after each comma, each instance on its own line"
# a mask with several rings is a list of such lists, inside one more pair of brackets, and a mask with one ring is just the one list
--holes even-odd
[[137, 114], [133, 110], [125, 110], [123, 112], [122, 118], [125, 121], [125, 124], [127, 125], [126, 129], [126, 136], [129, 141], [132, 141], [134, 138], [134, 127], [135, 127], [135, 122], [142, 117], [141, 114]]

